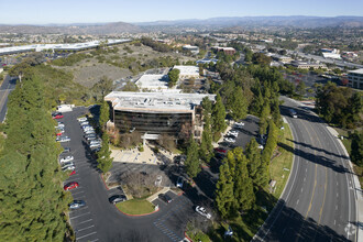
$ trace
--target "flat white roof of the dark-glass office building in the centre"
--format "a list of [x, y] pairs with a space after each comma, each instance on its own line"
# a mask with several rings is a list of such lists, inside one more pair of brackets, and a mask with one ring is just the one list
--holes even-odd
[[189, 112], [205, 97], [215, 101], [216, 95], [112, 91], [105, 97], [113, 109], [146, 112]]

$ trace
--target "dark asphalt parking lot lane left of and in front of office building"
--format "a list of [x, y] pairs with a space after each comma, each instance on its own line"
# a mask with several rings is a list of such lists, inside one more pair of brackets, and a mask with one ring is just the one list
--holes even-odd
[[184, 229], [190, 217], [198, 217], [193, 211], [193, 202], [186, 196], [174, 196], [170, 204], [161, 202], [160, 211], [146, 217], [128, 217], [121, 213], [108, 198], [121, 193], [118, 189], [107, 190], [96, 161], [82, 139], [82, 131], [76, 120], [86, 109], [77, 108], [64, 113], [61, 120], [66, 125], [66, 135], [70, 142], [63, 143], [72, 148], [75, 157], [76, 175], [68, 182], [78, 182], [79, 187], [73, 189], [74, 199], [86, 201], [86, 207], [72, 211], [70, 224], [76, 232], [77, 241], [180, 241]]

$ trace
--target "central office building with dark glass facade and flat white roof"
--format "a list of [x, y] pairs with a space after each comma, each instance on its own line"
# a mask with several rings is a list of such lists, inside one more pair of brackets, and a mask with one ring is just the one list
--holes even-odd
[[180, 132], [191, 131], [200, 140], [205, 97], [216, 99], [216, 95], [112, 91], [105, 97], [112, 113], [108, 125], [121, 133], [167, 134], [176, 140]]

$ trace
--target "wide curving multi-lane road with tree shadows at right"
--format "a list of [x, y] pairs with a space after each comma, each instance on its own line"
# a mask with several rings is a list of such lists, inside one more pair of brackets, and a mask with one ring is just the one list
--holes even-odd
[[[295, 107], [298, 118], [288, 116]], [[253, 241], [355, 241], [355, 194], [343, 150], [318, 117], [285, 100], [295, 148], [289, 182]]]

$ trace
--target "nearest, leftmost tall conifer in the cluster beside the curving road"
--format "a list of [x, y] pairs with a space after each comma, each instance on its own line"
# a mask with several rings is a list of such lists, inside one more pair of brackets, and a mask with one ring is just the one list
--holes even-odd
[[223, 219], [231, 216], [234, 206], [233, 179], [228, 163], [219, 168], [219, 179], [216, 185], [217, 209]]

